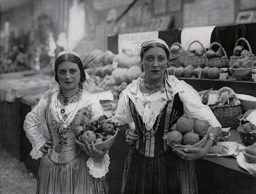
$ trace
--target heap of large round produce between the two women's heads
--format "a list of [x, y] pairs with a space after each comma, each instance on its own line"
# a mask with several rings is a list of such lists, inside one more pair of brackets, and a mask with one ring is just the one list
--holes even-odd
[[139, 56], [116, 55], [111, 51], [96, 49], [83, 60], [83, 64], [90, 74], [93, 87], [111, 90], [114, 99], [118, 99], [121, 91], [134, 79], [143, 76]]

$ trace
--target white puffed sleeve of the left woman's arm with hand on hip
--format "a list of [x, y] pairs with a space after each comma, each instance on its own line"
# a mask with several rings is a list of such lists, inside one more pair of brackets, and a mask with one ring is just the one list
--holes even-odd
[[45, 94], [40, 98], [38, 104], [26, 115], [24, 121], [24, 130], [26, 136], [32, 144], [30, 156], [36, 160], [42, 156], [43, 153], [40, 152], [39, 149], [46, 142], [39, 126], [46, 122], [46, 109], [49, 99], [48, 96], [49, 94]]

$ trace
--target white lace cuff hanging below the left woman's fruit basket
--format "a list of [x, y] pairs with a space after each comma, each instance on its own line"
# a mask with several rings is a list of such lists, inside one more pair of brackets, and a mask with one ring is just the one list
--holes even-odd
[[94, 178], [104, 177], [109, 171], [110, 157], [106, 154], [101, 162], [95, 162], [92, 158], [89, 158], [86, 162], [89, 168], [89, 174]]

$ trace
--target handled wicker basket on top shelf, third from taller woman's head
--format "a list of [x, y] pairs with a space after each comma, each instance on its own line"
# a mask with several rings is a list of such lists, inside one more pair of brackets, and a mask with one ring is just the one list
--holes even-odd
[[213, 68], [213, 67], [217, 67], [217, 68], [226, 68], [226, 67], [228, 67], [229, 60], [228, 60], [228, 57], [227, 57], [227, 53], [224, 50], [224, 48], [221, 46], [221, 44], [219, 44], [219, 42], [212, 42], [210, 44], [209, 49], [212, 49], [212, 47], [215, 46], [215, 45], [219, 46], [219, 48], [222, 49], [224, 56], [214, 57], [214, 58], [206, 58], [206, 66], [211, 67], [211, 68]]

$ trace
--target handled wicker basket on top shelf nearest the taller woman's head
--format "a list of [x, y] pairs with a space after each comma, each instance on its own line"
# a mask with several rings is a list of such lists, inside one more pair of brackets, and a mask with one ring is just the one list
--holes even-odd
[[[183, 49], [179, 42], [174, 42], [174, 44], [172, 46], [170, 46], [170, 48], [172, 48], [173, 46], [179, 46], [181, 49]], [[174, 66], [176, 68], [184, 67], [184, 60], [185, 60], [185, 52], [183, 52], [183, 53], [178, 53], [178, 52], [170, 53], [170, 58], [169, 58], [169, 61], [168, 61], [168, 65], [169, 66]]]

